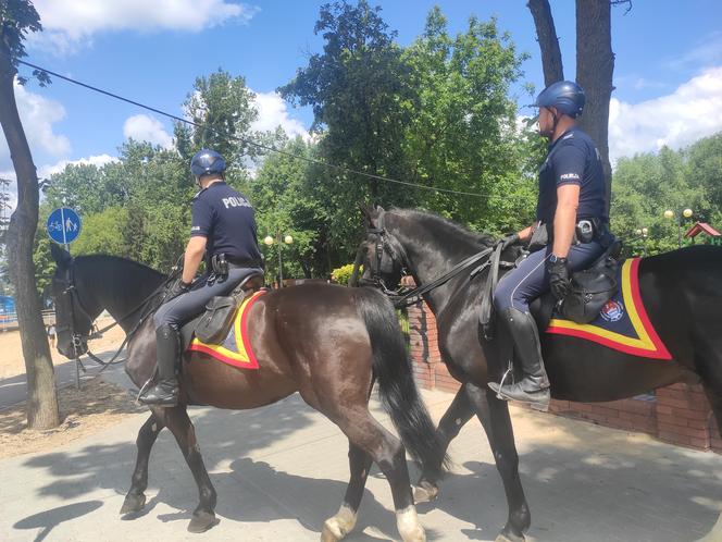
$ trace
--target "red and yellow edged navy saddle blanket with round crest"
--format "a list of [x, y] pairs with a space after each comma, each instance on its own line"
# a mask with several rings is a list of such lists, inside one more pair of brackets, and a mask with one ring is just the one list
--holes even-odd
[[555, 312], [547, 333], [594, 341], [615, 350], [653, 359], [672, 359], [655, 331], [639, 295], [639, 258], [625, 260], [621, 267], [621, 291], [588, 324], [578, 324]]

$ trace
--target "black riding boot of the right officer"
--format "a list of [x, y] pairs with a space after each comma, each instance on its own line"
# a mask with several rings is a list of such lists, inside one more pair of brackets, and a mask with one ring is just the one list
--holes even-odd
[[489, 387], [502, 399], [521, 401], [536, 410], [547, 411], [550, 399], [549, 379], [544, 369], [539, 332], [534, 317], [511, 307], [501, 313], [501, 318], [514, 343], [514, 352], [521, 360], [524, 378], [520, 382], [502, 386], [489, 382]]

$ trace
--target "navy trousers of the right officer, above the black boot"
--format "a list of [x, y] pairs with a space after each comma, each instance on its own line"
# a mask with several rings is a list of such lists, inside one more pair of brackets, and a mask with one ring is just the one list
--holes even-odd
[[[570, 273], [585, 269], [599, 258], [605, 248], [596, 241], [572, 245], [567, 256]], [[514, 307], [528, 312], [528, 305], [537, 297], [549, 292], [547, 260], [551, 256], [551, 245], [532, 252], [518, 268], [501, 278], [494, 293], [494, 306], [497, 311]]]

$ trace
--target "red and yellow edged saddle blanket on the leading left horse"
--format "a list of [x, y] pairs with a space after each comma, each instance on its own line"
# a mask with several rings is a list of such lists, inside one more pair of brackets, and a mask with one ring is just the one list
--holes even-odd
[[248, 337], [248, 313], [250, 312], [253, 303], [263, 294], [265, 290], [259, 290], [250, 297], [247, 297], [240, 304], [236, 311], [233, 325], [226, 337], [221, 344], [206, 344], [198, 337], [188, 345], [189, 350], [202, 352], [209, 356], [214, 357], [219, 361], [239, 367], [241, 369], [258, 369], [258, 360], [253, 355], [251, 343]]

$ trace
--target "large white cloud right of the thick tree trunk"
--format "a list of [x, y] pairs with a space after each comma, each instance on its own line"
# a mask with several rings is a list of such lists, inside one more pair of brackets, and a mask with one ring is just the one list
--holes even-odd
[[620, 157], [690, 145], [722, 131], [722, 66], [705, 70], [674, 93], [640, 103], [612, 98], [609, 156]]

